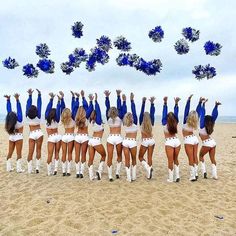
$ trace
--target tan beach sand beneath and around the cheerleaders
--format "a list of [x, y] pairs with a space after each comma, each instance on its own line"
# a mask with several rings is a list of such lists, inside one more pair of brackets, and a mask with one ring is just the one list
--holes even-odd
[[[236, 235], [235, 124], [215, 127], [219, 179], [206, 180], [200, 174], [194, 183], [188, 180], [183, 147], [179, 156], [181, 181], [166, 182], [167, 160], [160, 125], [155, 127], [153, 179], [145, 178], [138, 163], [133, 183], [126, 182], [124, 166], [121, 179], [112, 183], [106, 168], [101, 181], [89, 181], [87, 169], [84, 179], [76, 179], [74, 165], [70, 177], [62, 177], [61, 169], [57, 176], [46, 176], [46, 135], [40, 173], [8, 173], [8, 135], [3, 125], [0, 131], [0, 235]], [[27, 134], [25, 128], [25, 169]], [[15, 158], [14, 154], [14, 166]], [[96, 158], [95, 167], [98, 161]], [[210, 177], [209, 157], [206, 163]]]

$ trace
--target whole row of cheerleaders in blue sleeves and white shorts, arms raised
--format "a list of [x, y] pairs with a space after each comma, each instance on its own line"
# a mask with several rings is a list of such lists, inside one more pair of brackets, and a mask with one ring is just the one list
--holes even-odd
[[[41, 110], [42, 98], [41, 92], [38, 92], [37, 105], [33, 105], [33, 90], [28, 90], [28, 100], [26, 104], [26, 121], [29, 125], [29, 150], [28, 150], [28, 173], [33, 173], [33, 156], [36, 153], [35, 172], [40, 171], [40, 159], [44, 134], [41, 130]], [[75, 169], [76, 177], [83, 178], [86, 166], [88, 167], [89, 179], [100, 180], [106, 161], [108, 179], [113, 181], [113, 153], [116, 150], [117, 160], [115, 168], [116, 179], [120, 178], [122, 155], [124, 155], [124, 164], [126, 169], [126, 179], [128, 182], [136, 180], [137, 156], [141, 162], [148, 179], [152, 178], [153, 167], [152, 159], [155, 147], [153, 138], [153, 126], [155, 123], [155, 97], [150, 97], [150, 111], [145, 110], [147, 99], [142, 99], [142, 106], [139, 117], [136, 113], [134, 94], [130, 94], [131, 112], [127, 111], [126, 96], [121, 94], [121, 90], [116, 90], [116, 106], [110, 105], [111, 92], [106, 90], [105, 106], [106, 119], [109, 126], [109, 135], [106, 142], [106, 150], [102, 144], [104, 133], [104, 123], [102, 113], [98, 102], [98, 96], [95, 93], [88, 96], [89, 102], [85, 98], [82, 90], [80, 93], [71, 91], [71, 106], [68, 108], [64, 101], [62, 91], [57, 95], [57, 104], [54, 107], [54, 93], [49, 93], [50, 99], [45, 111], [46, 131], [47, 131], [47, 174], [57, 175], [59, 160], [61, 159], [62, 175], [70, 176], [73, 160], [73, 150], [75, 151]], [[22, 168], [22, 147], [23, 147], [23, 112], [19, 99], [19, 94], [14, 94], [16, 100], [16, 112], [12, 111], [9, 95], [4, 96], [7, 100], [7, 116], [5, 129], [9, 134], [9, 151], [7, 154], [7, 171], [13, 171], [11, 158], [16, 149], [17, 161], [16, 171], [24, 172]], [[80, 105], [80, 97], [82, 105]], [[184, 119], [182, 125], [182, 134], [184, 138], [184, 148], [188, 156], [190, 181], [198, 179], [198, 164], [200, 163], [202, 176], [207, 178], [206, 165], [204, 157], [209, 154], [212, 163], [212, 178], [217, 179], [217, 168], [215, 160], [216, 142], [211, 137], [214, 131], [215, 121], [218, 116], [218, 106], [220, 102], [215, 103], [211, 115], [205, 114], [205, 104], [207, 99], [201, 97], [195, 110], [190, 111], [192, 95], [189, 96], [184, 110]], [[178, 156], [181, 148], [181, 142], [177, 136], [179, 123], [179, 101], [174, 99], [175, 105], [173, 112], [168, 112], [168, 97], [163, 99], [162, 125], [165, 137], [165, 151], [168, 161], [168, 182], [179, 182], [180, 171]], [[64, 133], [59, 134], [58, 126], [62, 124]], [[88, 126], [91, 124], [92, 136], [89, 136]], [[121, 135], [124, 130], [124, 137]], [[138, 150], [137, 133], [141, 132], [141, 145]], [[202, 141], [200, 152], [198, 153], [199, 139], [195, 131], [199, 130], [199, 137]], [[60, 150], [62, 154], [60, 157]], [[101, 159], [99, 165], [94, 171], [94, 157], [96, 152]], [[88, 153], [88, 161], [87, 161]], [[147, 158], [145, 158], [147, 154]], [[54, 158], [54, 160], [53, 160]], [[54, 163], [54, 164], [52, 164]]]

